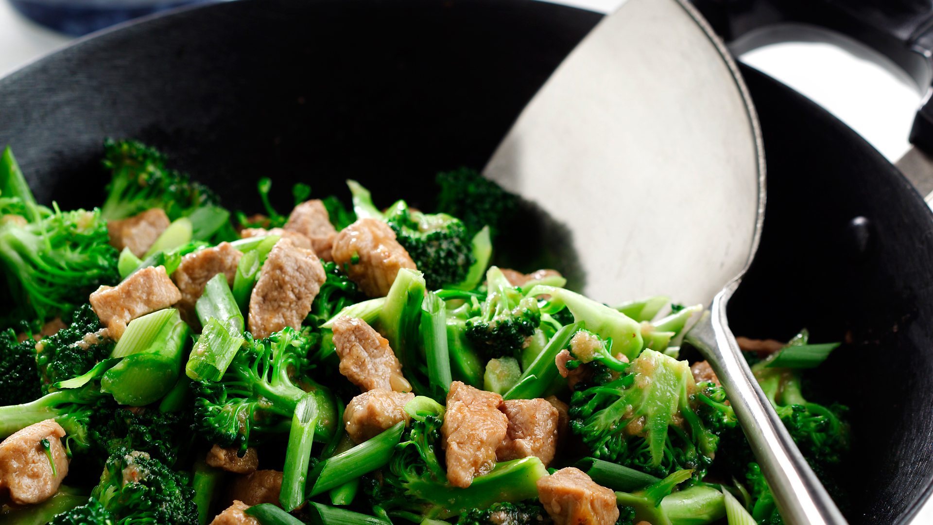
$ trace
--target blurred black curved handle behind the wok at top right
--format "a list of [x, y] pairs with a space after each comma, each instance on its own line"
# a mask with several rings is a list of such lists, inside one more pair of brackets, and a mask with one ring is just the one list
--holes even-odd
[[933, 0], [691, 0], [726, 42], [780, 23], [823, 27], [877, 50], [926, 90], [912, 144], [933, 155]]

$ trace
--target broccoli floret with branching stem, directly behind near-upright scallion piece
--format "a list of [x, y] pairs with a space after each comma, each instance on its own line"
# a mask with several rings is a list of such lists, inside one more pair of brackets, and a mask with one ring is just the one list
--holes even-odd
[[290, 327], [265, 339], [248, 338], [219, 381], [193, 383], [195, 430], [208, 443], [241, 450], [256, 445], [264, 433], [288, 433], [306, 393], [298, 386], [302, 384], [317, 398], [315, 439], [330, 439], [336, 408], [330, 391], [305, 375], [309, 348], [309, 339]]

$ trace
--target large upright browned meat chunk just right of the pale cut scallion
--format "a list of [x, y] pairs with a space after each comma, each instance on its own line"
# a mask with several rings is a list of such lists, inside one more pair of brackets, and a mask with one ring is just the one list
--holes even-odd
[[249, 297], [249, 331], [261, 339], [286, 326], [298, 330], [325, 278], [312, 250], [279, 239]]

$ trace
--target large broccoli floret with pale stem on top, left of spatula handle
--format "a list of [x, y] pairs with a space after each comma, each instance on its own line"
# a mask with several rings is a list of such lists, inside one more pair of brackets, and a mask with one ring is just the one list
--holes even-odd
[[[718, 435], [696, 413], [701, 401], [690, 397], [694, 381], [686, 361], [646, 349], [624, 376], [602, 364], [588, 366], [594, 370], [592, 380], [578, 385], [569, 414], [572, 431], [594, 458], [659, 477], [693, 469], [703, 478]], [[672, 424], [675, 420], [683, 424]]]

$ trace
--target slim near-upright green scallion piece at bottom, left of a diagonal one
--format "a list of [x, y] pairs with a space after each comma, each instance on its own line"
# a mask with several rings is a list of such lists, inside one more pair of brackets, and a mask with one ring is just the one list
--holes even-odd
[[317, 402], [313, 394], [305, 394], [295, 407], [295, 415], [292, 417], [288, 433], [288, 447], [285, 450], [285, 472], [279, 503], [286, 511], [294, 510], [304, 501], [316, 423]]

